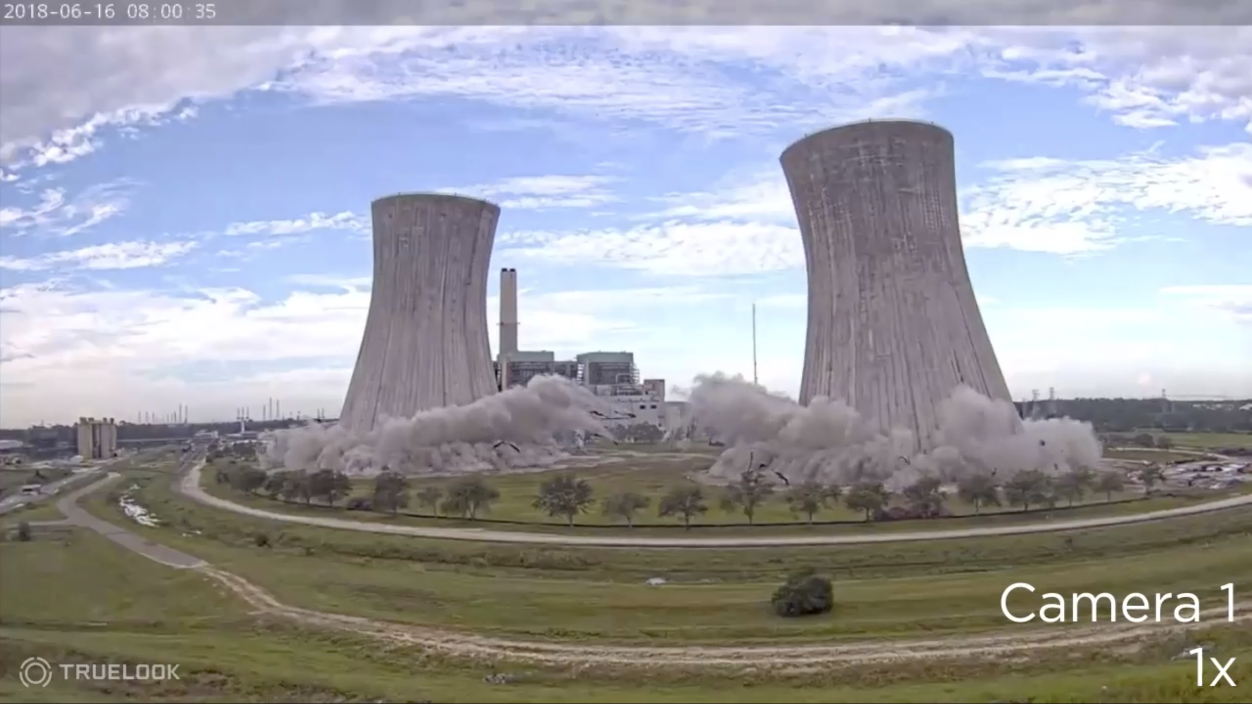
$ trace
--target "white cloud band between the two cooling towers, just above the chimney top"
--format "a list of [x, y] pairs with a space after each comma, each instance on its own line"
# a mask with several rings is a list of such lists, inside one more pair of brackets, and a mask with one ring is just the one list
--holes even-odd
[[511, 257], [654, 274], [726, 276], [804, 267], [799, 230], [769, 223], [675, 220], [626, 230], [517, 232], [502, 237], [500, 247]]

